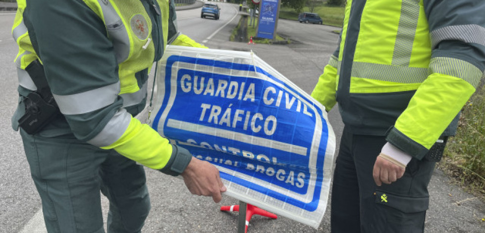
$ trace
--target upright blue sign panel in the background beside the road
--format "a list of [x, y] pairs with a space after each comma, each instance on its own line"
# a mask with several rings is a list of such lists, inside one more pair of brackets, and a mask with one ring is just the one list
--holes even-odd
[[273, 39], [276, 17], [278, 15], [278, 0], [263, 0], [258, 23], [257, 37]]

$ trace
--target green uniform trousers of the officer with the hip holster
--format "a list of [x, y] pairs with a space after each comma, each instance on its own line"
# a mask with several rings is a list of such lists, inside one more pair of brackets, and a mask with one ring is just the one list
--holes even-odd
[[143, 167], [77, 140], [66, 124], [51, 124], [35, 135], [20, 132], [47, 231], [103, 233], [101, 190], [110, 203], [108, 232], [141, 232], [150, 210]]

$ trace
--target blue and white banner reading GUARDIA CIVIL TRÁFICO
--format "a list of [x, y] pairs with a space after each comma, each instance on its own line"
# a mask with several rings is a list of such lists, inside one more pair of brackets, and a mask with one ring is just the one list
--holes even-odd
[[335, 135], [324, 107], [252, 52], [167, 47], [153, 129], [216, 165], [225, 194], [318, 228]]

